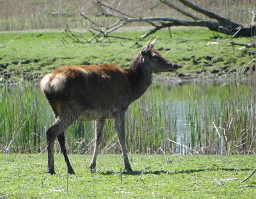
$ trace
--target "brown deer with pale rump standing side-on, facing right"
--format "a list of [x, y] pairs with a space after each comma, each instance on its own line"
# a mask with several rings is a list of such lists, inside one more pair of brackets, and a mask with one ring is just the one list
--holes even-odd
[[96, 120], [95, 148], [90, 170], [95, 170], [97, 150], [102, 141], [106, 118], [115, 119], [115, 127], [124, 158], [124, 170], [132, 171], [125, 146], [125, 111], [152, 83], [152, 72], [179, 68], [165, 60], [148, 42], [127, 69], [112, 64], [63, 66], [43, 77], [40, 87], [55, 116], [47, 129], [48, 173], [54, 174], [54, 140], [58, 138], [68, 173], [74, 170], [68, 160], [64, 131], [75, 120]]

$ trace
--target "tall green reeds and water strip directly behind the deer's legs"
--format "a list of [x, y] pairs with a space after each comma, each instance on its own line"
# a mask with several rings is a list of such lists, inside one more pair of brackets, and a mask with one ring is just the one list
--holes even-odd
[[[255, 154], [255, 79], [225, 83], [154, 83], [126, 114], [130, 153]], [[1, 153], [42, 153], [54, 121], [35, 84], [0, 88]], [[75, 122], [66, 132], [67, 150], [92, 154], [93, 122]], [[56, 141], [56, 152], [60, 152]], [[104, 127], [101, 153], [120, 153], [113, 120]]]

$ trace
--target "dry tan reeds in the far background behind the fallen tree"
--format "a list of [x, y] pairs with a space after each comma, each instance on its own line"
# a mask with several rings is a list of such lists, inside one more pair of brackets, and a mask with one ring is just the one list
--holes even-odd
[[[151, 9], [157, 3], [155, 0], [134, 0], [127, 2], [106, 0], [102, 2], [135, 17], [169, 16], [177, 19], [188, 19], [188, 17], [176, 10], [170, 9], [168, 6], [160, 5]], [[251, 12], [255, 9], [253, 0], [197, 0], [191, 2], [241, 24], [250, 24], [252, 20]], [[180, 8], [184, 8], [184, 6], [177, 1], [173, 3], [180, 6]], [[19, 4], [19, 6], [17, 6], [17, 4]], [[93, 1], [85, 0], [0, 1], [0, 31], [63, 29], [66, 28], [67, 24], [70, 28], [88, 28], [90, 24], [83, 20], [83, 17], [79, 15], [80, 12], [85, 13], [89, 17], [93, 17], [95, 16], [93, 13], [97, 13], [98, 11], [95, 6], [93, 6]], [[189, 10], [189, 12], [193, 13], [193, 10]], [[200, 13], [196, 13], [196, 15], [200, 15]], [[200, 15], [200, 17], [204, 19], [204, 15]], [[104, 25], [115, 22], [115, 19], [111, 17], [97, 17], [95, 20]]]

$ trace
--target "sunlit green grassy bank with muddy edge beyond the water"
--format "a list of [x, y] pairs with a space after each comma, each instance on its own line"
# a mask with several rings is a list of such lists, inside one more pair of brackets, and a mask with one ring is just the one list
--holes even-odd
[[[140, 35], [131, 31], [119, 34], [133, 38]], [[164, 57], [182, 65], [177, 74], [172, 74], [179, 78], [250, 73], [255, 63], [252, 61], [255, 49], [239, 51], [235, 46], [233, 51], [229, 46], [230, 36], [205, 29], [172, 30], [172, 37], [168, 31], [159, 31], [152, 36], [159, 36], [156, 49]], [[38, 81], [42, 74], [60, 65], [116, 63], [129, 67], [147, 41], [148, 38], [137, 42], [108, 38], [96, 44], [76, 44], [63, 33], [0, 33], [0, 78], [2, 82], [8, 79], [12, 82]], [[218, 45], [207, 45], [211, 42], [218, 42]], [[236, 42], [248, 44], [248, 39], [236, 38]], [[170, 74], [166, 76], [171, 77]]]

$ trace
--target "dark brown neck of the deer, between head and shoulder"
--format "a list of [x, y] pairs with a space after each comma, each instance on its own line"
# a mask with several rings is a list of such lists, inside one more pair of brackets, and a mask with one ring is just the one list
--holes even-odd
[[131, 67], [126, 70], [133, 99], [138, 99], [152, 83], [152, 73], [147, 70], [140, 55], [132, 61]]

